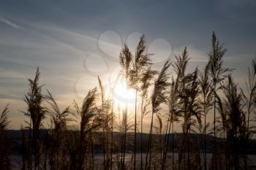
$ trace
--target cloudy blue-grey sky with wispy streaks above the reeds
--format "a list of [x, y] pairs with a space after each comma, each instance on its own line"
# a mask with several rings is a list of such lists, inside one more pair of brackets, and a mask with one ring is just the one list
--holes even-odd
[[24, 124], [24, 93], [39, 66], [43, 93], [61, 107], [81, 101], [97, 86], [110, 86], [124, 43], [134, 52], [146, 36], [154, 69], [188, 47], [189, 71], [203, 68], [211, 34], [225, 42], [225, 66], [244, 87], [256, 57], [256, 1], [0, 1], [0, 108], [10, 104], [10, 128]]

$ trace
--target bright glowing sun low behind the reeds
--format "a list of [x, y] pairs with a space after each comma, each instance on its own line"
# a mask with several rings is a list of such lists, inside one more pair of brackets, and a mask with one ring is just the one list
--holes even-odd
[[113, 98], [117, 104], [123, 107], [135, 104], [135, 90], [127, 87], [124, 78], [119, 78], [113, 90]]

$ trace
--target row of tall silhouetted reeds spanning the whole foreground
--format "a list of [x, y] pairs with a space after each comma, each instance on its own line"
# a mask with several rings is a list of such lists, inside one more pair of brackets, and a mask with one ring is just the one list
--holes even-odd
[[[135, 90], [132, 120], [128, 106], [114, 109], [113, 96], [105, 95], [99, 77], [99, 90], [89, 90], [81, 105], [74, 101], [72, 107], [60, 109], [49, 91], [42, 94], [37, 69], [24, 98], [23, 114], [29, 121], [21, 127], [18, 140], [7, 131], [8, 105], [1, 112], [0, 169], [12, 169], [15, 154], [22, 156], [16, 167], [22, 170], [255, 169], [248, 154], [255, 153], [256, 60], [248, 69], [246, 89], [238, 88], [233, 69], [223, 66], [227, 50], [215, 34], [211, 42], [205, 68], [190, 73], [186, 47], [157, 72], [151, 69], [144, 36], [135, 54], [124, 45], [118, 77]], [[143, 134], [146, 117], [150, 117], [150, 127]], [[49, 128], [43, 126], [45, 120], [50, 120]], [[176, 134], [174, 124], [181, 126], [181, 134]], [[94, 158], [97, 152], [103, 155], [100, 165]], [[133, 153], [130, 160], [125, 159], [127, 152]]]

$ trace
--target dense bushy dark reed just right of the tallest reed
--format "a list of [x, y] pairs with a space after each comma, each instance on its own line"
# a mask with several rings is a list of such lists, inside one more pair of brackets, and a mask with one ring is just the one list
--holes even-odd
[[[223, 101], [224, 109], [227, 117], [227, 142], [229, 147], [228, 158], [230, 166], [238, 170], [240, 169], [239, 157], [244, 150], [241, 142], [246, 136], [246, 117], [243, 111], [242, 93], [238, 91], [237, 85], [233, 82], [233, 78], [229, 74], [227, 84], [223, 90], [225, 99]], [[240, 147], [239, 147], [240, 146]]]

